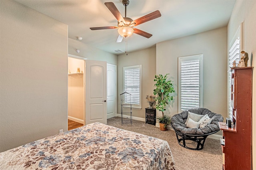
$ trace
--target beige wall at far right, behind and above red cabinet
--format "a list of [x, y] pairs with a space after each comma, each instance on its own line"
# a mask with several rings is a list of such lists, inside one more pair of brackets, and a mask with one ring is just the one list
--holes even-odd
[[[256, 64], [256, 1], [239, 0], [232, 12], [228, 23], [228, 45], [231, 43], [239, 25], [244, 22], [244, 51], [249, 55], [248, 66], [250, 66], [251, 55], [253, 55], [252, 66]], [[252, 169], [256, 169], [256, 74], [255, 69], [252, 76]]]

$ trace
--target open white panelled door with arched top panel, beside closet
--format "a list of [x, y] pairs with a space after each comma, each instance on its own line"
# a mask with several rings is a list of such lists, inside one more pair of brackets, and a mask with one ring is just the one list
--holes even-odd
[[85, 124], [107, 124], [107, 63], [86, 60]]

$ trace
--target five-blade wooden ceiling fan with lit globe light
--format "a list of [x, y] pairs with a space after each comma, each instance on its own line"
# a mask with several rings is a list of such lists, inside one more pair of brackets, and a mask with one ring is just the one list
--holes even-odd
[[144, 22], [154, 20], [161, 16], [161, 13], [156, 10], [150, 14], [142, 16], [136, 20], [132, 20], [131, 18], [126, 17], [126, 6], [129, 5], [129, 0], [123, 0], [123, 5], [125, 6], [125, 17], [123, 18], [116, 6], [113, 2], [105, 2], [106, 7], [112, 12], [112, 14], [116, 17], [118, 21], [118, 26], [106, 26], [106, 27], [90, 27], [91, 30], [99, 30], [99, 29], [118, 29], [119, 36], [116, 40], [117, 43], [122, 42], [123, 37], [129, 37], [132, 33], [136, 33], [146, 38], [150, 38], [152, 34], [142, 31], [137, 28], [133, 28], [134, 26], [140, 25]]

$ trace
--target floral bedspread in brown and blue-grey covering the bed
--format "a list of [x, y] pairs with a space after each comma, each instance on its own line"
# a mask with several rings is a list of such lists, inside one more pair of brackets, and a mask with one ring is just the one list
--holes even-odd
[[1, 152], [0, 169], [175, 168], [166, 141], [97, 122]]

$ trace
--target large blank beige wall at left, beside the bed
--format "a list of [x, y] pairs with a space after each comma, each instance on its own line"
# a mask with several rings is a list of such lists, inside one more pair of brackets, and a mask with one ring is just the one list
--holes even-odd
[[68, 26], [0, 1], [0, 152], [67, 130]]

